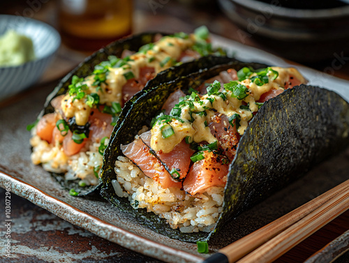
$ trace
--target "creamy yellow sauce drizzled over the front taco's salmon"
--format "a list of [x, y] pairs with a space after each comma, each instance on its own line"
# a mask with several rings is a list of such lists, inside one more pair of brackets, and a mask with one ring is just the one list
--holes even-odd
[[[285, 82], [288, 82], [290, 75], [296, 77], [300, 82], [306, 83], [304, 77], [295, 68], [272, 67], [272, 69], [276, 70], [279, 73], [279, 76], [276, 77], [275, 80], [272, 80], [272, 77], [268, 75], [269, 82], [262, 84], [262, 86], [258, 86], [257, 84], [251, 82], [249, 78], [238, 82], [239, 84], [244, 84], [244, 86], [248, 88], [248, 96], [242, 100], [232, 96], [232, 91], [223, 91], [223, 93], [225, 93], [226, 100], [223, 100], [221, 96], [209, 96], [206, 94], [205, 96], [200, 97], [201, 103], [193, 101], [194, 109], [191, 110], [191, 112], [206, 112], [206, 116], [204, 114], [202, 114], [202, 116], [192, 114], [194, 119], [193, 122], [190, 121], [191, 114], [189, 106], [186, 105], [185, 107], [181, 107], [181, 115], [179, 118], [184, 121], [184, 123], [181, 123], [181, 121], [178, 121], [177, 119], [172, 119], [172, 121], [170, 121], [168, 124], [170, 124], [174, 130], [174, 135], [170, 137], [163, 137], [161, 133], [163, 123], [155, 123], [153, 128], [151, 128], [151, 148], [154, 149], [154, 151], [161, 150], [164, 153], [169, 153], [172, 151], [174, 146], [179, 144], [186, 136], [190, 136], [193, 138], [193, 141], [197, 143], [215, 142], [216, 137], [212, 135], [210, 128], [207, 126], [207, 123], [212, 121], [215, 113], [224, 114], [228, 117], [228, 119], [234, 114], [239, 114], [241, 120], [239, 122], [240, 126], [237, 131], [240, 135], [243, 135], [248, 126], [248, 121], [250, 121], [253, 117], [252, 112], [258, 111], [258, 105], [255, 102], [260, 99], [260, 96], [262, 96], [263, 93], [266, 93], [272, 89], [283, 90]], [[256, 74], [253, 73], [251, 77], [254, 75]], [[211, 103], [207, 98], [214, 99], [214, 102]], [[243, 110], [240, 108], [242, 101], [248, 103], [249, 110]], [[216, 112], [210, 109], [214, 109]]]

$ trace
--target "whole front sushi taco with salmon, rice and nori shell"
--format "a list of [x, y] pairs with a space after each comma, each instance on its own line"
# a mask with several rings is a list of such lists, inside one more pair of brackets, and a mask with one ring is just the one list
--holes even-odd
[[147, 87], [112, 133], [101, 194], [161, 234], [208, 239], [348, 145], [348, 103], [305, 84], [295, 68], [233, 61]]

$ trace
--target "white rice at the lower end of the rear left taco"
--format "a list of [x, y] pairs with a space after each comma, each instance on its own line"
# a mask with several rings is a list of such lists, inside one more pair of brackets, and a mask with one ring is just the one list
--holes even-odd
[[[56, 173], [66, 173], [66, 180], [81, 179], [87, 186], [97, 185], [99, 172], [103, 164], [103, 156], [98, 152], [99, 143], [87, 144], [84, 149], [73, 156], [66, 156], [59, 145], [49, 144], [32, 130], [30, 144], [33, 147], [31, 161], [43, 164], [45, 170]], [[105, 144], [109, 139], [105, 140]]]

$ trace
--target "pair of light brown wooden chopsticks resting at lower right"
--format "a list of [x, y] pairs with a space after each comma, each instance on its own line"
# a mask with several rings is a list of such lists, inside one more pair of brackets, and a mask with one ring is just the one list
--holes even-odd
[[349, 209], [349, 180], [218, 250], [202, 263], [273, 262]]

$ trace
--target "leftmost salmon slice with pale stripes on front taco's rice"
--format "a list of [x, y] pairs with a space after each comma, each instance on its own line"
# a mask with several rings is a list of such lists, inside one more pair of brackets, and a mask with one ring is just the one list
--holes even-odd
[[157, 181], [163, 188], [181, 188], [181, 182], [172, 180], [158, 158], [150, 153], [149, 147], [140, 138], [128, 145], [121, 145], [121, 151], [137, 165], [142, 172]]

